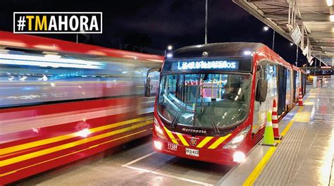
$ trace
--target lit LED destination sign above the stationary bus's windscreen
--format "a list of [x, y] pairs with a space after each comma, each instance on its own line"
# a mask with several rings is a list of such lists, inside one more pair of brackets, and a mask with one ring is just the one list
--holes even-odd
[[171, 70], [238, 70], [238, 61], [178, 61], [173, 63]]

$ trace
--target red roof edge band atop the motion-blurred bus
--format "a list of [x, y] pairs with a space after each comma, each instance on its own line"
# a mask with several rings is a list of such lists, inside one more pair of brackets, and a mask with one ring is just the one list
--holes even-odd
[[32, 35], [18, 35], [4, 31], [0, 31], [0, 46], [16, 49], [30, 49], [36, 51], [51, 51], [91, 56], [129, 58], [138, 61], [163, 62], [163, 56], [141, 54], [119, 49], [108, 49], [101, 46], [77, 44], [75, 42], [66, 42], [58, 39], [50, 39]]

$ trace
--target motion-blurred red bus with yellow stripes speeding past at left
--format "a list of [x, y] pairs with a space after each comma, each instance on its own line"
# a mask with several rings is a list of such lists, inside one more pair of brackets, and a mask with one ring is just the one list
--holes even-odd
[[[0, 32], [0, 185], [151, 134], [144, 85], [162, 62]], [[159, 73], [149, 78], [155, 90]]]

